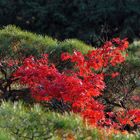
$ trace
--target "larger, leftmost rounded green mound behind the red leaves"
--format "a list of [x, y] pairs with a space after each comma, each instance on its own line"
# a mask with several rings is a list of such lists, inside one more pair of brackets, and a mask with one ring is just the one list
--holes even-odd
[[0, 57], [39, 56], [41, 53], [51, 52], [57, 44], [57, 40], [48, 36], [22, 31], [15, 26], [0, 30]]

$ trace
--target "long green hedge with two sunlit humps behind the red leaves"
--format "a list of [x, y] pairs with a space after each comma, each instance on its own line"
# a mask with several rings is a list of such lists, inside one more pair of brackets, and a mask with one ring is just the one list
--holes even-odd
[[78, 40], [66, 40], [59, 42], [48, 36], [36, 35], [20, 28], [9, 25], [0, 30], [0, 57], [21, 58], [30, 55], [39, 56], [42, 53], [52, 52], [59, 55], [63, 51], [72, 52], [73, 50], [82, 53], [92, 49], [91, 46]]

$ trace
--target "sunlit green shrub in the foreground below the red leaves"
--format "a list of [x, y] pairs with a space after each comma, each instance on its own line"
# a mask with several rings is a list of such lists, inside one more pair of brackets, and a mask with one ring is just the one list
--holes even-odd
[[136, 136], [110, 135], [101, 133], [83, 124], [82, 119], [72, 114], [58, 114], [46, 111], [39, 105], [27, 107], [23, 103], [5, 103], [0, 107], [0, 130], [20, 140], [138, 140]]

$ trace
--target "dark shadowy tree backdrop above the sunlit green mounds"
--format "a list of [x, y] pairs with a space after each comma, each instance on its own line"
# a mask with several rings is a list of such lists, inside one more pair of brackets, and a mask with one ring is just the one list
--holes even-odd
[[90, 44], [114, 36], [140, 37], [139, 0], [0, 0], [0, 26]]

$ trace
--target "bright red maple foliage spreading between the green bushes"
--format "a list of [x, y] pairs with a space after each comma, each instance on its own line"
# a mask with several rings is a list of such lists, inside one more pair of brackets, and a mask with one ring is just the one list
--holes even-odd
[[40, 59], [31, 56], [24, 60], [14, 77], [30, 88], [36, 101], [61, 101], [70, 106], [69, 111], [80, 114], [90, 125], [119, 130], [125, 130], [127, 126], [138, 127], [140, 110], [106, 112], [106, 106], [96, 99], [106, 88], [104, 78], [119, 75], [118, 72], [108, 73], [108, 69], [125, 61], [127, 48], [126, 39], [115, 38], [86, 55], [77, 51], [72, 55], [63, 53], [62, 61], [74, 63], [74, 69], [63, 72], [49, 63], [47, 54]]

